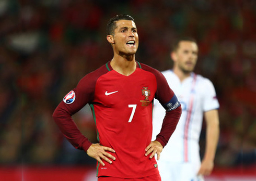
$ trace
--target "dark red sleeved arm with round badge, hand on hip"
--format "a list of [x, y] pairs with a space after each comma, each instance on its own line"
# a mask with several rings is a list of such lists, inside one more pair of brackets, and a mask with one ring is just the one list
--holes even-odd
[[[99, 69], [98, 69], [99, 70]], [[63, 101], [53, 112], [53, 119], [66, 139], [76, 148], [84, 150], [88, 156], [95, 158], [102, 165], [102, 159], [111, 163], [115, 160], [107, 151], [114, 152], [112, 148], [100, 144], [92, 144], [78, 129], [72, 115], [82, 109], [94, 99], [95, 84], [101, 72], [95, 71], [87, 74], [77, 86], [65, 96]]]

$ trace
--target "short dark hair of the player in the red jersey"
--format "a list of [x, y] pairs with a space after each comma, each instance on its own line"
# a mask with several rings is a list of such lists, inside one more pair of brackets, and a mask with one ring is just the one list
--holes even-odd
[[116, 22], [119, 20], [131, 20], [134, 22], [133, 17], [130, 15], [117, 15], [111, 18], [107, 23], [107, 35], [114, 35], [114, 29], [117, 28]]

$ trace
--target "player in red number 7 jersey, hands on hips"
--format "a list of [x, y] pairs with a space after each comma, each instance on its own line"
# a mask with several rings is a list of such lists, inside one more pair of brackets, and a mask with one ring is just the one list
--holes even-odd
[[[101, 181], [160, 181], [157, 159], [180, 119], [180, 103], [165, 77], [135, 60], [138, 33], [134, 19], [118, 15], [107, 24], [113, 59], [85, 75], [61, 101], [53, 118], [69, 142], [97, 160]], [[152, 138], [153, 100], [166, 109], [162, 129]], [[80, 133], [72, 115], [91, 107], [99, 143]]]

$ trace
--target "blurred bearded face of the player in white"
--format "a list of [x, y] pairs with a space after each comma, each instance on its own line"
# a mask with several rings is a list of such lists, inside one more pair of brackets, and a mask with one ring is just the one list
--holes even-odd
[[196, 43], [190, 41], [181, 41], [176, 51], [171, 54], [174, 66], [190, 73], [194, 70], [197, 61], [198, 47]]

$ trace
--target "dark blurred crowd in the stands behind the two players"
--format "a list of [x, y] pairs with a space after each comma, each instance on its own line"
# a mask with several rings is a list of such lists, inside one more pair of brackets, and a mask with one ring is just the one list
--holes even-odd
[[[107, 21], [135, 19], [136, 60], [170, 69], [170, 44], [192, 36], [195, 72], [220, 103], [215, 166], [256, 164], [256, 3], [241, 0], [0, 0], [0, 165], [94, 165], [62, 136], [55, 107], [87, 73], [112, 59]], [[73, 116], [96, 143], [89, 107]], [[204, 151], [205, 127], [201, 134]]]

